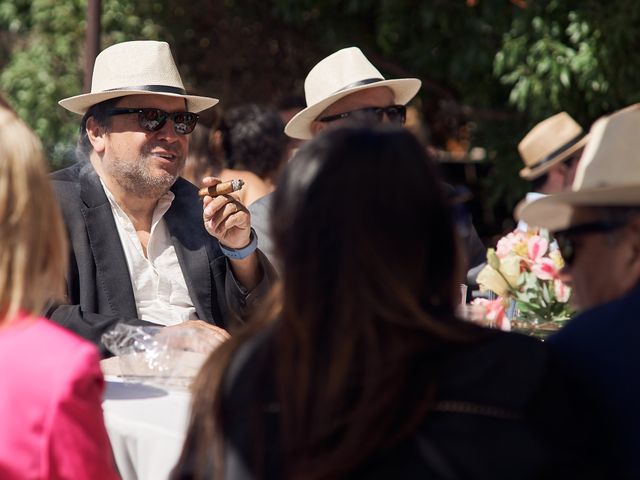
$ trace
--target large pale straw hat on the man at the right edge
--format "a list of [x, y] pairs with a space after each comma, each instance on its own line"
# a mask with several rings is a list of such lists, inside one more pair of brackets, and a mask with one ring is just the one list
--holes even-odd
[[640, 206], [640, 103], [594, 123], [570, 192], [521, 202], [516, 217], [547, 228], [570, 226], [577, 206]]

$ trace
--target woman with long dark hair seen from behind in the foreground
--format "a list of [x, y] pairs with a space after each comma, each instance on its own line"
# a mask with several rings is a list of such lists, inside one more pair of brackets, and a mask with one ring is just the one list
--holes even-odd
[[442, 185], [400, 128], [300, 148], [273, 194], [281, 288], [198, 375], [173, 479], [570, 478], [545, 345], [455, 316]]

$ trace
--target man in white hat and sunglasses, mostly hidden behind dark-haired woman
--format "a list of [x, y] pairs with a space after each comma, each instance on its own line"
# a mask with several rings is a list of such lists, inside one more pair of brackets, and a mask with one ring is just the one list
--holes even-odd
[[[326, 128], [347, 122], [388, 122], [404, 125], [406, 104], [418, 93], [417, 78], [385, 79], [357, 47], [348, 47], [329, 55], [314, 66], [304, 82], [307, 107], [285, 126], [285, 133], [300, 140], [315, 137]], [[389, 169], [392, 171], [392, 166]], [[271, 255], [269, 207], [272, 195], [250, 206], [254, 226], [260, 236], [260, 248]], [[475, 228], [463, 238], [471, 266], [485, 258], [485, 248]], [[270, 257], [272, 258], [272, 257]]]

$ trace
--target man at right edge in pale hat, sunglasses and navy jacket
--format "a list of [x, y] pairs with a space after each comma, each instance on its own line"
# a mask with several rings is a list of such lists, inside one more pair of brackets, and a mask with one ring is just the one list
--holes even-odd
[[[572, 190], [519, 207], [555, 232], [581, 311], [548, 341], [595, 422], [606, 478], [640, 477], [640, 104], [592, 127]], [[605, 476], [601, 477], [605, 478]]]

